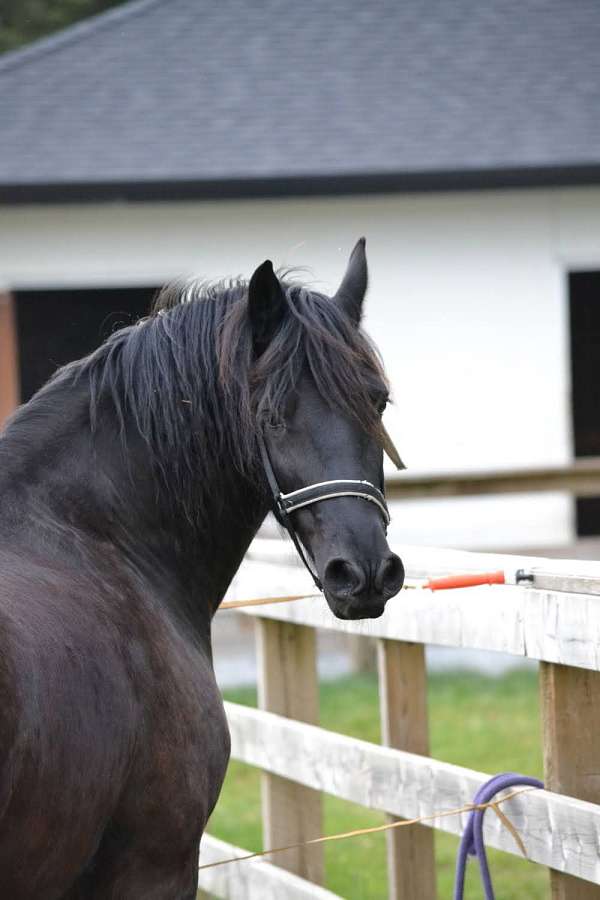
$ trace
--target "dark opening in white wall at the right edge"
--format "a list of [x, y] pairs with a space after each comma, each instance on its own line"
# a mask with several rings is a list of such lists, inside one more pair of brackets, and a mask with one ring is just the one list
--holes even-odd
[[[576, 457], [600, 456], [600, 271], [569, 275], [573, 441]], [[600, 534], [600, 497], [576, 500], [577, 534]]]

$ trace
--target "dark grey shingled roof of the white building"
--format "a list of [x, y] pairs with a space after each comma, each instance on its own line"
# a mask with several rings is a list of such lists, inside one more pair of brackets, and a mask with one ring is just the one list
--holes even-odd
[[5, 200], [600, 181], [598, 0], [135, 0], [0, 59]]

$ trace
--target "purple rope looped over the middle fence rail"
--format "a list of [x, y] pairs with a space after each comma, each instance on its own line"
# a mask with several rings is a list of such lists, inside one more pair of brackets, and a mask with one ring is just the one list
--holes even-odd
[[[494, 775], [485, 784], [482, 784], [473, 803], [489, 803], [500, 791], [506, 788], [528, 785], [530, 787], [543, 788], [544, 785], [537, 778], [529, 775], [518, 775], [516, 772], [504, 772], [502, 775]], [[494, 889], [490, 868], [483, 842], [483, 816], [485, 809], [474, 809], [469, 815], [467, 827], [460, 839], [458, 856], [456, 858], [456, 877], [454, 880], [454, 900], [463, 900], [465, 891], [465, 873], [469, 856], [476, 856], [479, 863], [481, 881], [485, 893], [485, 900], [494, 900]]]

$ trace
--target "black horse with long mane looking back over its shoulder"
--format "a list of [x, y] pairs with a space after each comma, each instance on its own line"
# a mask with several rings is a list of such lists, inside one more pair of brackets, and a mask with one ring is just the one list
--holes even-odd
[[[359, 328], [364, 241], [333, 298], [263, 263], [165, 289], [0, 438], [0, 896], [195, 897], [229, 736], [211, 619], [284, 491], [378, 483], [385, 379]], [[291, 514], [333, 611], [402, 586], [375, 503]]]

